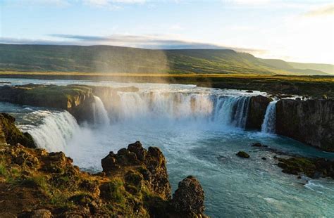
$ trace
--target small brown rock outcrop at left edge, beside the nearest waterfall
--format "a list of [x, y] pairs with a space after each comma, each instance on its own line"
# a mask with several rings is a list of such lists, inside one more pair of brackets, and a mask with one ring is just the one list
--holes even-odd
[[0, 113], [0, 144], [9, 143], [16, 145], [21, 143], [28, 148], [36, 148], [32, 136], [27, 132], [20, 132], [15, 125], [15, 118], [6, 113]]

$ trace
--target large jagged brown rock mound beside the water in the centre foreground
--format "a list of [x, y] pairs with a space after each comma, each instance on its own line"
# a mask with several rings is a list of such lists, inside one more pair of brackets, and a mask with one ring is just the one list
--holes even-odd
[[130, 144], [128, 148], [118, 150], [117, 154], [109, 153], [106, 158], [101, 160], [101, 164], [103, 172], [107, 175], [117, 174], [118, 171], [123, 171], [126, 167], [137, 169], [136, 172], [125, 174], [125, 180], [132, 180], [130, 182], [135, 183], [132, 184], [135, 186], [140, 186], [143, 183], [162, 198], [171, 198], [166, 159], [159, 148], [149, 147], [146, 150], [137, 141]]

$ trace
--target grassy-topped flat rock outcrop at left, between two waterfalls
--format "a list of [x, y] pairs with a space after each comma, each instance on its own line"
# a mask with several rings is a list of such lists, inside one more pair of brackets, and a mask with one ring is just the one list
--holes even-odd
[[78, 122], [93, 120], [92, 101], [94, 98], [92, 88], [87, 86], [42, 84], [1, 86], [0, 101], [68, 110]]

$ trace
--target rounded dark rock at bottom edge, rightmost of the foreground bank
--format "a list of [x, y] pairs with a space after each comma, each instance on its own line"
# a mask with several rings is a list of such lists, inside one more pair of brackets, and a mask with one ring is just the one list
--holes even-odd
[[204, 191], [199, 181], [189, 176], [178, 184], [171, 201], [173, 210], [183, 217], [204, 216]]

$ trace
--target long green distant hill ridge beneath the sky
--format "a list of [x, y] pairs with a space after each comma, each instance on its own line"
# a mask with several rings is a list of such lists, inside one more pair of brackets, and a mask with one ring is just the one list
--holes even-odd
[[256, 58], [228, 49], [150, 50], [119, 46], [0, 44], [0, 71], [261, 75], [326, 75], [328, 72], [319, 70], [320, 67], [298, 64]]

